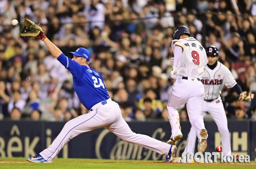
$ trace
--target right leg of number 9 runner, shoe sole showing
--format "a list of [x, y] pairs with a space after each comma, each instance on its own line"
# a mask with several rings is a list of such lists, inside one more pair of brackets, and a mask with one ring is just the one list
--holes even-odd
[[191, 86], [194, 87], [193, 93], [195, 94], [187, 101], [188, 117], [199, 138], [197, 150], [203, 153], [207, 147], [207, 130], [204, 127], [204, 120], [201, 115], [204, 103], [204, 87], [203, 84], [195, 86], [191, 84]]

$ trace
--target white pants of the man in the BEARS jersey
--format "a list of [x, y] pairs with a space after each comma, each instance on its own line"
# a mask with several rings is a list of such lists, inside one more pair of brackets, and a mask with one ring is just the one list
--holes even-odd
[[[223, 155], [230, 155], [231, 154], [230, 135], [229, 135], [229, 129], [227, 128], [227, 117], [222, 104], [221, 97], [219, 97], [218, 99], [212, 102], [204, 101], [203, 109], [202, 109], [203, 118], [206, 115], [206, 112], [208, 112], [212, 116], [212, 119], [217, 124], [218, 130], [221, 134]], [[191, 126], [191, 129], [187, 138], [187, 145], [184, 151], [186, 153], [188, 152], [194, 153], [195, 143], [196, 143], [196, 131]]]

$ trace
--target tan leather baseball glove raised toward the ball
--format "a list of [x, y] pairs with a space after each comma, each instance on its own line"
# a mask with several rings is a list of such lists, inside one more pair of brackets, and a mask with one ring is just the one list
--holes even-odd
[[24, 22], [25, 26], [20, 34], [21, 37], [29, 37], [30, 39], [34, 39], [37, 37], [41, 32], [44, 32], [39, 24], [35, 24], [31, 20], [25, 19]]

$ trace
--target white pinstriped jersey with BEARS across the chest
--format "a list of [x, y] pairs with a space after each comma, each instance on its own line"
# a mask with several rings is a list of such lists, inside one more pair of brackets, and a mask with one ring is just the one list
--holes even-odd
[[201, 81], [204, 84], [204, 99], [206, 100], [218, 98], [224, 85], [232, 88], [237, 84], [230, 70], [221, 62], [218, 62], [213, 70], [206, 66]]

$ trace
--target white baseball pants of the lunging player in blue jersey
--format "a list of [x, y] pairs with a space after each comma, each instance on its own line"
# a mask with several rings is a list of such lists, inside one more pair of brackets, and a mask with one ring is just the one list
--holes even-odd
[[122, 118], [121, 110], [116, 102], [108, 99], [107, 104], [98, 103], [92, 109], [93, 111], [88, 114], [68, 121], [52, 144], [39, 154], [45, 160], [52, 161], [72, 138], [84, 132], [105, 127], [124, 141], [145, 147], [162, 155], [168, 155], [171, 145], [131, 131]]

